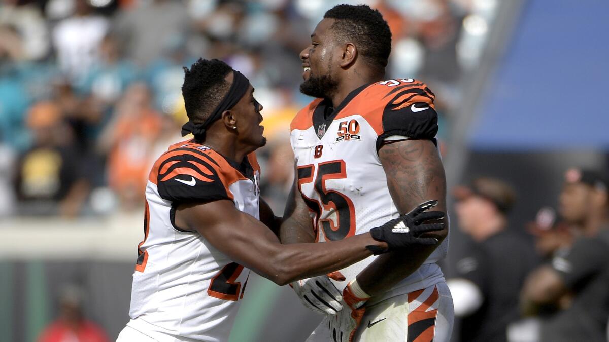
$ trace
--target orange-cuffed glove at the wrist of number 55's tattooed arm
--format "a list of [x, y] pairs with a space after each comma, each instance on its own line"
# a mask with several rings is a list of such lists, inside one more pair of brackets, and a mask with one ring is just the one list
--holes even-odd
[[369, 298], [357, 298], [351, 291], [351, 284], [343, 290], [343, 310], [335, 316], [329, 316], [328, 328], [330, 329], [330, 340], [333, 342], [351, 342], [362, 317], [366, 312], [364, 304]]

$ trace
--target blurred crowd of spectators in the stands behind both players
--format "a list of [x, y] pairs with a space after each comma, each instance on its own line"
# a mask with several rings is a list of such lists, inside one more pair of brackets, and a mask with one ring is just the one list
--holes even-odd
[[[183, 66], [220, 58], [264, 105], [262, 194], [276, 211], [292, 179], [289, 122], [299, 52], [322, 0], [2, 0], [0, 217], [107, 215], [141, 207], [153, 160], [183, 139]], [[476, 65], [496, 0], [377, 0], [393, 33], [390, 77], [438, 95], [442, 140], [459, 80]]]

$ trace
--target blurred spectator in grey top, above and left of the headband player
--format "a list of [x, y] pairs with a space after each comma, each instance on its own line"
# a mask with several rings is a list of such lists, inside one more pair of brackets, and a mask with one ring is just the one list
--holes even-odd
[[139, 66], [146, 66], [160, 56], [163, 48], [175, 37], [182, 37], [189, 28], [186, 5], [176, 0], [139, 1], [120, 12], [114, 23], [117, 37], [124, 39], [127, 57]]

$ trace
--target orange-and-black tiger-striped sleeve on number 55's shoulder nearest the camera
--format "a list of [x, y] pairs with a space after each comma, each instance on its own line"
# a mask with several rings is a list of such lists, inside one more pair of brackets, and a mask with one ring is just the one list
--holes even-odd
[[[412, 79], [407, 79], [412, 80]], [[381, 82], [382, 83], [382, 82]], [[385, 86], [383, 97], [382, 125], [379, 145], [390, 136], [406, 139], [430, 139], [434, 141], [438, 133], [438, 114], [435, 111], [435, 95], [427, 85], [418, 80], [400, 85]]]

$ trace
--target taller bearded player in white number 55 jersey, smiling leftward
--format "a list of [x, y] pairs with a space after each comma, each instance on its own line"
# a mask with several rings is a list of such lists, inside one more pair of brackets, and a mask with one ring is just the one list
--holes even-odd
[[[389, 26], [367, 5], [337, 5], [315, 27], [300, 90], [317, 99], [292, 121], [295, 183], [281, 242], [340, 241], [430, 198], [445, 211], [434, 93], [420, 80], [385, 79], [390, 51]], [[448, 219], [438, 222], [445, 228], [425, 236], [439, 245], [368, 257], [339, 270], [345, 282], [292, 283], [303, 304], [334, 314], [309, 341], [448, 341], [454, 309], [437, 264]]]

